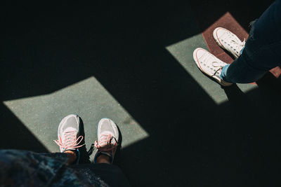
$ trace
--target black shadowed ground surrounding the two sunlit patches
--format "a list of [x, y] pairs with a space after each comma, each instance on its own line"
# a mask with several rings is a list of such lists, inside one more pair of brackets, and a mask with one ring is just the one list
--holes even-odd
[[[48, 94], [95, 76], [150, 134], [117, 162], [132, 186], [276, 186], [280, 85], [262, 80], [247, 94], [233, 85], [225, 89], [229, 102], [217, 105], [165, 49], [226, 11], [245, 27], [269, 5], [239, 3], [5, 4], [1, 99]], [[1, 115], [1, 148], [46, 151], [3, 104]]]

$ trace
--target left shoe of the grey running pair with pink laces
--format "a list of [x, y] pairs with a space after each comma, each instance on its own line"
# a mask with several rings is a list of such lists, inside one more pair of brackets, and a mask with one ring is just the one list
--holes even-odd
[[77, 115], [70, 114], [60, 121], [58, 126], [58, 140], [54, 140], [55, 144], [60, 146], [60, 152], [73, 151], [77, 156], [77, 163], [79, 161], [78, 148], [84, 146], [80, 145], [83, 137], [80, 136], [80, 118]]

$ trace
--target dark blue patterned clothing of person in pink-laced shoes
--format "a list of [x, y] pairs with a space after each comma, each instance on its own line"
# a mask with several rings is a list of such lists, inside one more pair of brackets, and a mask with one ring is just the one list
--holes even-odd
[[[5, 186], [107, 186], [91, 166], [72, 169], [67, 153], [0, 150], [0, 184]], [[112, 170], [117, 173], [118, 170]], [[107, 172], [110, 174], [110, 172]], [[1, 186], [0, 185], [0, 186]]]

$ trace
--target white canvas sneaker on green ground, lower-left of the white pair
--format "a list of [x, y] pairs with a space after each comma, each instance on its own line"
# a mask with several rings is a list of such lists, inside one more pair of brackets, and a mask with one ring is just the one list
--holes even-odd
[[217, 57], [209, 53], [207, 50], [197, 48], [193, 52], [193, 59], [197, 64], [197, 67], [211, 78], [214, 78], [218, 83], [223, 86], [232, 85], [221, 79], [221, 69], [226, 65], [225, 62], [219, 60]]

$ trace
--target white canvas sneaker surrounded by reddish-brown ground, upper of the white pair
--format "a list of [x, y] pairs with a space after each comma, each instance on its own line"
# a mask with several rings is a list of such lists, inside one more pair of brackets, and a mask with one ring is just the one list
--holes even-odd
[[245, 39], [240, 41], [235, 34], [222, 27], [214, 29], [213, 36], [218, 46], [228, 50], [235, 58], [240, 56], [240, 52], [246, 43]]

